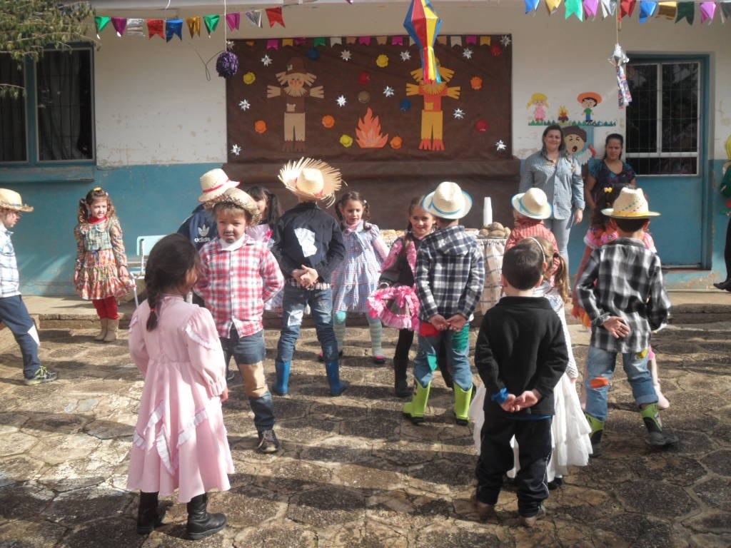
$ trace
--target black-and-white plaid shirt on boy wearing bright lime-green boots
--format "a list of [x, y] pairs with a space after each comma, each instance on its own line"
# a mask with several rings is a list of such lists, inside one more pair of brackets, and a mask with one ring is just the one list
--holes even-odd
[[469, 320], [485, 284], [482, 248], [461, 225], [439, 229], [422, 240], [414, 278], [422, 321], [458, 313]]

